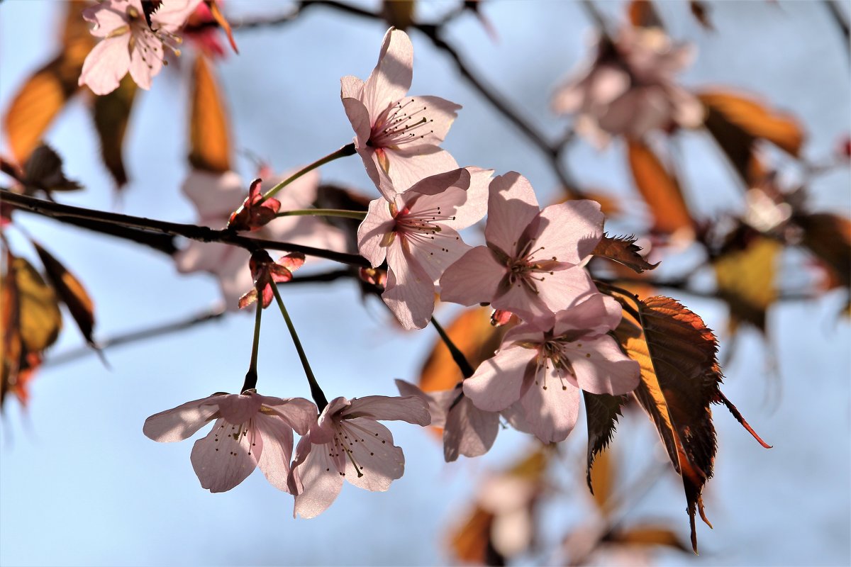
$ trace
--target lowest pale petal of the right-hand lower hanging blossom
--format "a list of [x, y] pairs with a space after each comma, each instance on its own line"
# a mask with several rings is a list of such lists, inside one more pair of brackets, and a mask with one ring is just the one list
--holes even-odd
[[[306, 439], [308, 438], [302, 437], [299, 441], [296, 455], [300, 452], [303, 443], [310, 445], [310, 440], [306, 441]], [[334, 451], [339, 450], [331, 444], [310, 445], [310, 447], [310, 452], [303, 457], [302, 462], [294, 464], [292, 469], [293, 484], [299, 487], [299, 492], [295, 496], [293, 518], [296, 516], [317, 517], [331, 506], [343, 487], [341, 473], [345, 470], [345, 464], [340, 459], [330, 456]], [[342, 458], [341, 455], [340, 458]], [[298, 458], [296, 462], [299, 462]]]

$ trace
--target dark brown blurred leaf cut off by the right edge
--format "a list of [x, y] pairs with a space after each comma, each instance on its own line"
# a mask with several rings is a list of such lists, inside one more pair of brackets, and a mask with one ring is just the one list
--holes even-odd
[[831, 213], [797, 215], [801, 243], [825, 263], [834, 286], [851, 286], [851, 220]]

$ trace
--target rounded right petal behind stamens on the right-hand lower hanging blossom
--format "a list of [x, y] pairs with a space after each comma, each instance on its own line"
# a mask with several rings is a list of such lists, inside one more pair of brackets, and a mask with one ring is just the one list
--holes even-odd
[[[413, 398], [422, 403], [420, 398]], [[426, 411], [425, 404], [423, 411]], [[390, 488], [393, 480], [402, 477], [405, 456], [402, 449], [393, 445], [393, 435], [388, 428], [367, 417], [346, 419], [340, 423], [340, 428], [349, 444], [344, 447], [351, 455], [351, 459], [346, 459], [346, 480], [352, 485], [383, 492]]]

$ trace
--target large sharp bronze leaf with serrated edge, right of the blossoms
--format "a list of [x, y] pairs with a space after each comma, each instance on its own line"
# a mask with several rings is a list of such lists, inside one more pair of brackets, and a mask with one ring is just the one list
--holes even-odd
[[[709, 406], [724, 403], [717, 341], [698, 315], [671, 298], [648, 298], [637, 304], [640, 326], [625, 317], [615, 334], [641, 366], [641, 383], [634, 395], [683, 477], [692, 547], [697, 553], [695, 513], [700, 512], [711, 527], [701, 499], [703, 486], [712, 476], [717, 448]], [[744, 419], [740, 422], [746, 423]], [[750, 426], [747, 429], [768, 446]]]

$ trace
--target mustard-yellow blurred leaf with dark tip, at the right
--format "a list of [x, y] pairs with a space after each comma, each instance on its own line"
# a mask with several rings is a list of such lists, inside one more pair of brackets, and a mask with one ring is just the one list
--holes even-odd
[[783, 245], [761, 235], [712, 261], [718, 295], [730, 306], [730, 332], [740, 322], [765, 332], [765, 312], [777, 299], [775, 264]]

